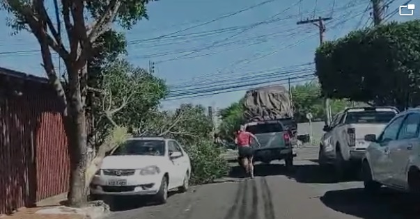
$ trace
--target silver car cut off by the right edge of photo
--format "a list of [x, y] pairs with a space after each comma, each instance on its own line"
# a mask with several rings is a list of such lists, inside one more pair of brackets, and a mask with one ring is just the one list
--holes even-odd
[[370, 142], [362, 163], [364, 188], [370, 192], [382, 185], [396, 190], [420, 191], [420, 108], [394, 117]]

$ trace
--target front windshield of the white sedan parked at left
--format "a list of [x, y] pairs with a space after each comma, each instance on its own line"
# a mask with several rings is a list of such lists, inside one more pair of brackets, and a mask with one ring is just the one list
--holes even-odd
[[112, 155], [153, 155], [164, 156], [164, 140], [127, 140]]

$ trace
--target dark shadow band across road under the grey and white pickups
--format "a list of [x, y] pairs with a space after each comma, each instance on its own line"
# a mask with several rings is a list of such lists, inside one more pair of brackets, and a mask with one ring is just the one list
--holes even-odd
[[[358, 181], [357, 175], [348, 175], [344, 179], [338, 180], [334, 175], [334, 170], [321, 168], [317, 163], [295, 164], [288, 169], [283, 164], [257, 164], [254, 166], [254, 175], [258, 177], [284, 175], [290, 179], [295, 179], [303, 184], [335, 184], [345, 181]], [[244, 178], [245, 172], [239, 166], [231, 168], [228, 177]]]

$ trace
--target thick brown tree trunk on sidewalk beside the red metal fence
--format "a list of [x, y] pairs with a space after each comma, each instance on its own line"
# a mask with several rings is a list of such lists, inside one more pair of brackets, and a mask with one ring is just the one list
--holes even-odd
[[69, 95], [68, 117], [65, 118], [65, 130], [68, 135], [68, 152], [70, 155], [70, 188], [68, 191], [68, 204], [70, 206], [83, 206], [86, 204], [88, 189], [85, 186], [87, 138], [85, 108], [81, 101], [81, 88], [79, 72], [68, 69]]

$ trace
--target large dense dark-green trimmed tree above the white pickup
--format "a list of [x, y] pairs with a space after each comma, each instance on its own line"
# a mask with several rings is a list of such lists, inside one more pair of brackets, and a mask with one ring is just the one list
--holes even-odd
[[420, 21], [390, 23], [325, 42], [316, 51], [316, 74], [328, 97], [378, 105], [420, 101]]

